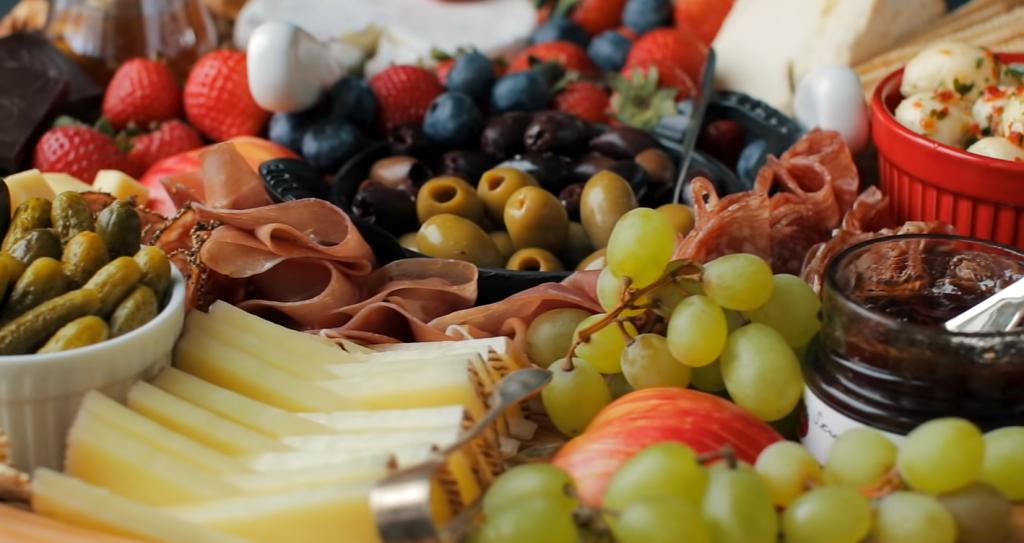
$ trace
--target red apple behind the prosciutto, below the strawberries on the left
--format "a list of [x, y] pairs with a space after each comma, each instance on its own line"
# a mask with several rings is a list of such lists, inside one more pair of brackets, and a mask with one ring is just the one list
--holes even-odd
[[[242, 156], [246, 159], [246, 162], [248, 162], [254, 170], [259, 168], [260, 164], [268, 160], [300, 158], [289, 149], [261, 137], [238, 136], [228, 139], [228, 141], [234, 143], [239, 153], [242, 154]], [[199, 155], [211, 147], [213, 145], [207, 145], [205, 148], [174, 155], [173, 157], [167, 157], [166, 159], [151, 166], [139, 179], [139, 182], [150, 189], [150, 202], [146, 204], [146, 207], [162, 215], [168, 217], [174, 216], [174, 214], [177, 213], [177, 207], [174, 206], [170, 197], [167, 196], [167, 191], [160, 182], [161, 179], [170, 177], [176, 173], [200, 170], [202, 166], [199, 162]], [[179, 177], [179, 180], [186, 179], [188, 179], [188, 176]], [[200, 194], [202, 194], [202, 187], [195, 189], [199, 189]]]

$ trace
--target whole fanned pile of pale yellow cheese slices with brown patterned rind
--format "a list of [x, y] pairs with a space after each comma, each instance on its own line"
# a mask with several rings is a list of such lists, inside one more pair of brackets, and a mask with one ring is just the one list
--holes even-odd
[[[369, 495], [455, 444], [524, 358], [507, 339], [347, 349], [218, 302], [193, 311], [175, 368], [127, 406], [85, 400], [44, 515], [161, 543], [376, 543]], [[536, 426], [513, 409], [446, 457], [433, 509], [475, 500]]]

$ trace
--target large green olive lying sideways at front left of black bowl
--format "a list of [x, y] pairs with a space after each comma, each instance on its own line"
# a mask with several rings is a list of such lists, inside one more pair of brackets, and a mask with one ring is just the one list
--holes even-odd
[[495, 242], [472, 220], [441, 213], [427, 219], [416, 234], [416, 247], [435, 258], [464, 260], [482, 267], [501, 267]]

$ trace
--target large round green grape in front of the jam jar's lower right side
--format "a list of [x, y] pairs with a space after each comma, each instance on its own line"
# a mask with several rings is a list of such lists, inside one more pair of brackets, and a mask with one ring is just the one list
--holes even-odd
[[985, 441], [974, 424], [957, 418], [928, 421], [900, 445], [896, 455], [911, 489], [944, 494], [970, 485], [981, 474]]

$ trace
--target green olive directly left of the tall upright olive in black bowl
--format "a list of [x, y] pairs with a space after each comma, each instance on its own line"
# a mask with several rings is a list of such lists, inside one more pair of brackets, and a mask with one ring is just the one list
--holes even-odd
[[516, 249], [538, 247], [561, 254], [569, 234], [569, 214], [551, 193], [523, 186], [505, 204], [505, 228]]

